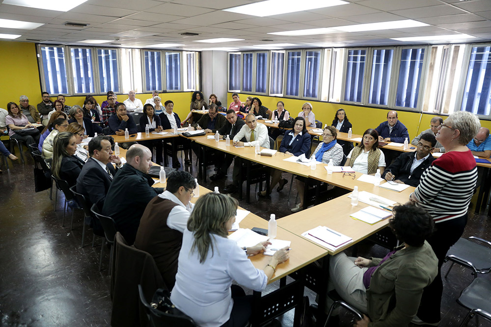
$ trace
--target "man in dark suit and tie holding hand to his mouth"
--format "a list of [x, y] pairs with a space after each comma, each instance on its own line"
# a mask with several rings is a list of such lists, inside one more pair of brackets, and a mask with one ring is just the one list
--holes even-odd
[[90, 140], [88, 151], [90, 158], [83, 165], [77, 178], [77, 191], [85, 196], [90, 205], [97, 204], [101, 210], [112, 179], [116, 176], [112, 163], [121, 168], [122, 162], [113, 154], [107, 136], [97, 136]]

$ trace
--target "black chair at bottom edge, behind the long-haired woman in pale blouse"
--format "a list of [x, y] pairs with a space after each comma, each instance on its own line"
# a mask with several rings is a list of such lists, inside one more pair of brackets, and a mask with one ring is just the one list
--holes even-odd
[[[196, 324], [194, 321], [177, 309], [176, 307], [172, 308], [172, 310], [176, 311], [176, 314], [168, 313], [157, 309], [156, 303], [148, 303], [145, 299], [145, 295], [143, 294], [143, 290], [141, 285], [138, 284], [138, 293], [140, 295], [140, 302], [145, 307], [145, 313], [147, 314], [148, 320], [150, 321], [151, 327], [194, 327]], [[170, 305], [170, 299], [165, 299]]]

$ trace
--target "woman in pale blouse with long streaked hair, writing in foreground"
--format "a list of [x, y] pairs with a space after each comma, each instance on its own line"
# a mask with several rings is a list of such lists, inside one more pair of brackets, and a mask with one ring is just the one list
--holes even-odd
[[276, 251], [263, 269], [256, 269], [247, 256], [263, 252], [270, 242], [244, 249], [228, 239], [236, 211], [234, 198], [205, 194], [196, 201], [183, 233], [170, 300], [201, 327], [245, 326], [252, 296], [246, 296], [232, 281], [262, 291], [276, 266], [289, 258], [284, 248]]

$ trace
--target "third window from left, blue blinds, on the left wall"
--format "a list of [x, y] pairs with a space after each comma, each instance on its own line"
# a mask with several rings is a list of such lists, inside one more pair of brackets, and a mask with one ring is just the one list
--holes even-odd
[[97, 49], [99, 84], [102, 93], [119, 92], [118, 62], [116, 50]]

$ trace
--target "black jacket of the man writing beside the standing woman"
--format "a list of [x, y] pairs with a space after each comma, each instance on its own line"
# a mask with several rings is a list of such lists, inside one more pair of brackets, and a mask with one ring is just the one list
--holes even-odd
[[382, 178], [385, 178], [387, 172], [391, 172], [392, 175], [396, 176], [395, 179], [401, 180], [404, 182], [404, 184], [414, 187], [418, 186], [421, 175], [423, 175], [423, 172], [431, 166], [432, 162], [435, 161], [436, 158], [430, 153], [425, 161], [423, 161], [418, 167], [414, 168], [411, 175], [411, 166], [415, 155], [416, 151], [404, 152], [399, 155], [394, 162], [385, 169], [382, 174]]

